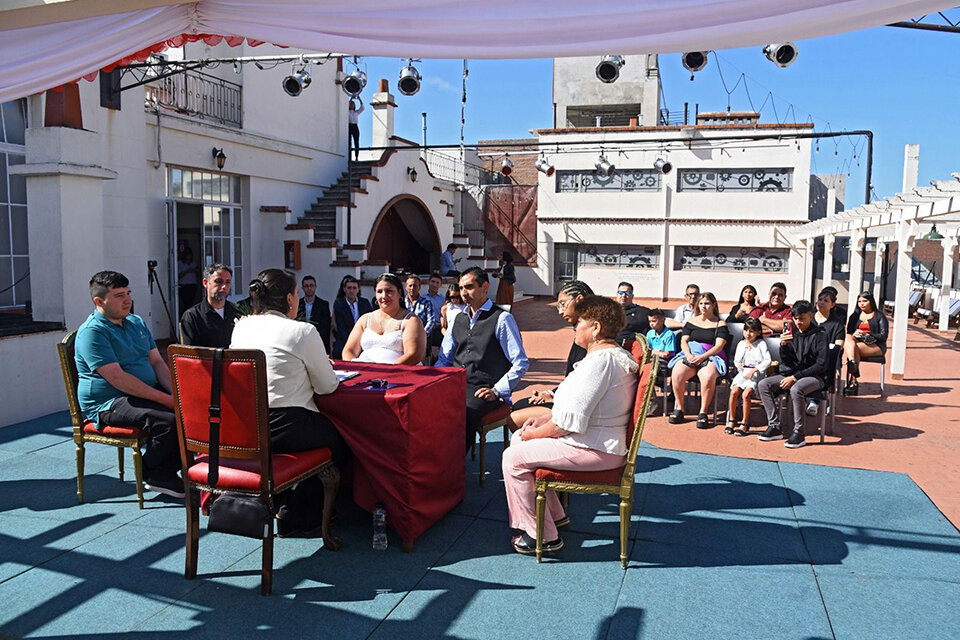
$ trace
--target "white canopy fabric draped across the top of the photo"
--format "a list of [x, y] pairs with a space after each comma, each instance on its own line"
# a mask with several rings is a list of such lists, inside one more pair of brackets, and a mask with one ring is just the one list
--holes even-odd
[[[533, 58], [728, 49], [865, 29], [956, 0], [20, 0], [0, 11], [0, 102], [181, 34], [318, 52]], [[122, 5], [123, 13], [115, 10]]]

